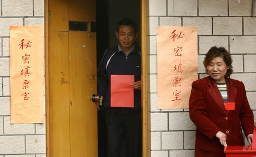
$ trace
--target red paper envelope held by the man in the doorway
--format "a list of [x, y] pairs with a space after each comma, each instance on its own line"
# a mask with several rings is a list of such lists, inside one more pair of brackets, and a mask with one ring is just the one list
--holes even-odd
[[111, 75], [111, 107], [134, 108], [134, 75]]

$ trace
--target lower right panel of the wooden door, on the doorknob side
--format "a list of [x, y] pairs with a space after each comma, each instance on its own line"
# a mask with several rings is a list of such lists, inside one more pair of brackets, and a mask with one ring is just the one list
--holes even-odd
[[69, 66], [71, 156], [98, 156], [95, 33], [69, 32]]

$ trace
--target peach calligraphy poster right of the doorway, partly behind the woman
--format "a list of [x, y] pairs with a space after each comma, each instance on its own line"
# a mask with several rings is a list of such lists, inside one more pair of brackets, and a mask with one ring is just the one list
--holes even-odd
[[197, 80], [197, 27], [157, 28], [158, 109], [188, 108]]

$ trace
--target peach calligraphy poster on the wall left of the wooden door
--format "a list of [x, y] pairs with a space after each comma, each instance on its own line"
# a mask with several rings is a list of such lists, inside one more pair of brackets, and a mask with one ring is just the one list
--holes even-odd
[[44, 27], [10, 27], [11, 123], [44, 122]]

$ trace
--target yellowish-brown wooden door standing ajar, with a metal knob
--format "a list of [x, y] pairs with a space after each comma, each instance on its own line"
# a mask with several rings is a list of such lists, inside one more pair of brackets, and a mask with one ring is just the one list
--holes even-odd
[[[98, 156], [96, 21], [93, 0], [49, 0], [49, 155]], [[87, 31], [69, 30], [69, 21], [87, 22]]]

